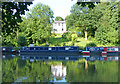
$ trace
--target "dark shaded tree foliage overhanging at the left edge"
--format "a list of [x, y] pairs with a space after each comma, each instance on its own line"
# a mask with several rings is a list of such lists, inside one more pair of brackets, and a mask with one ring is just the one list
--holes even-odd
[[[21, 15], [28, 11], [27, 6], [32, 2], [2, 2], [2, 37], [3, 44], [12, 44], [15, 46], [18, 22], [22, 22]], [[7, 40], [7, 38], [11, 38]]]

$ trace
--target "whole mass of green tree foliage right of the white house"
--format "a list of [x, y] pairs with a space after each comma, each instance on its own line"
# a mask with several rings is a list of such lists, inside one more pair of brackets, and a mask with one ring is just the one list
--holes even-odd
[[81, 36], [87, 35], [89, 40], [93, 37], [103, 45], [118, 44], [118, 2], [98, 3], [94, 7], [90, 4], [72, 6], [71, 14], [65, 18], [67, 29], [81, 32]]

